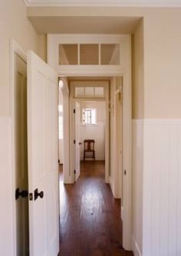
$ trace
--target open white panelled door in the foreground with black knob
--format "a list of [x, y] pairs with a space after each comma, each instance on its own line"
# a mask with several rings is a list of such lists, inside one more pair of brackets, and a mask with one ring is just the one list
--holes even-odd
[[58, 76], [28, 52], [28, 190], [30, 256], [57, 256]]

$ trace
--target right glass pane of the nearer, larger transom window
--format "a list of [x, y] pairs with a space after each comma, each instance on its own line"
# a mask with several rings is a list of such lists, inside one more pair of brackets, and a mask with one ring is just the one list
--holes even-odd
[[101, 44], [100, 56], [101, 65], [120, 65], [120, 45]]

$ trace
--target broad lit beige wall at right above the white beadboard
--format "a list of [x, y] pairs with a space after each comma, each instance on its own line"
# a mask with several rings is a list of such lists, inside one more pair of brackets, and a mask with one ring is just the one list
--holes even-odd
[[147, 12], [144, 19], [146, 118], [181, 117], [181, 8]]

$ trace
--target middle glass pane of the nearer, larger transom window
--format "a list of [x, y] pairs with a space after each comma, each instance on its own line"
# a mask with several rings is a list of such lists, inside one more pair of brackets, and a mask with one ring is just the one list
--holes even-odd
[[98, 65], [99, 64], [99, 45], [81, 44], [80, 45], [80, 64]]

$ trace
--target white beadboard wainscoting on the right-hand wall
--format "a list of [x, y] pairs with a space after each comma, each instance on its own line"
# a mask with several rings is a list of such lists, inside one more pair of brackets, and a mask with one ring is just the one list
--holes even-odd
[[143, 256], [181, 255], [181, 120], [143, 120]]

